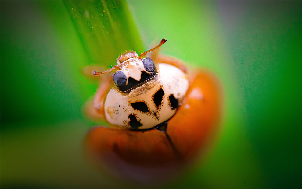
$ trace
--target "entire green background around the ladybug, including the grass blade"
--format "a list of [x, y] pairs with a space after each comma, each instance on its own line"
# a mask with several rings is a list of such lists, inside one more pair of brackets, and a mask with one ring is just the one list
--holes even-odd
[[[203, 161], [161, 188], [301, 188], [301, 1], [1, 1], [2, 188], [120, 188], [86, 161], [97, 83], [125, 50], [205, 68], [224, 90]], [[106, 123], [101, 123], [106, 124]]]

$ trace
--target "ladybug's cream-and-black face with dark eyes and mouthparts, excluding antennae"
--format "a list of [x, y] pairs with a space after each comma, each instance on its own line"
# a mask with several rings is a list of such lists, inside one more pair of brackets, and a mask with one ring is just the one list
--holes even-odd
[[[121, 55], [118, 61], [130, 57], [127, 54], [129, 53]], [[127, 57], [124, 58], [123, 56]], [[131, 57], [124, 62], [118, 63], [120, 64], [120, 69], [113, 75], [113, 81], [120, 91], [128, 91], [156, 75], [156, 68], [151, 58]]]

